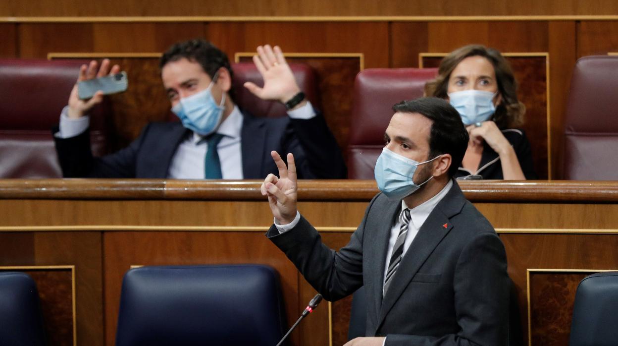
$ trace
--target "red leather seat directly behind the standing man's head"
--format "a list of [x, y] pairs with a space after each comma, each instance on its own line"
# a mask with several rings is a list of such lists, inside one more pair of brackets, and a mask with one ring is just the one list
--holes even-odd
[[348, 178], [373, 179], [373, 169], [384, 147], [384, 131], [393, 115], [392, 106], [422, 97], [425, 82], [438, 69], [366, 69], [356, 76]]

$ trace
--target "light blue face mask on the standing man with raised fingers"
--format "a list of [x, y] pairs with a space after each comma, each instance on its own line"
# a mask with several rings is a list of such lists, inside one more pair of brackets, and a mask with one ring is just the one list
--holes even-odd
[[376, 162], [376, 168], [374, 170], [378, 189], [390, 199], [402, 199], [412, 194], [433, 178], [433, 176], [430, 176], [430, 178], [423, 181], [423, 183], [415, 184], [414, 181], [412, 181], [412, 177], [417, 167], [424, 163], [432, 162], [438, 157], [439, 156], [436, 156], [431, 160], [418, 162], [395, 154], [386, 148], [382, 149], [382, 154], [378, 157], [378, 162]]

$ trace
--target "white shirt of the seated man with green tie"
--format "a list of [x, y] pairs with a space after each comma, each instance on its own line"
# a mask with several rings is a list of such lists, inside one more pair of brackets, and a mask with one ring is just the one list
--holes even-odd
[[[88, 129], [90, 117], [82, 116], [70, 119], [69, 106], [64, 107], [60, 115], [60, 131], [54, 136], [58, 138], [75, 137]], [[293, 119], [311, 119], [316, 116], [311, 103], [307, 103], [295, 110], [287, 112]], [[223, 179], [242, 179], [242, 153], [240, 152], [240, 133], [242, 131], [243, 115], [238, 106], [234, 106], [232, 113], [221, 123], [217, 133], [224, 135], [217, 144], [221, 175]], [[187, 136], [174, 152], [172, 162], [167, 171], [171, 179], [204, 179], [205, 157], [208, 144], [202, 141], [204, 136], [192, 132]]]

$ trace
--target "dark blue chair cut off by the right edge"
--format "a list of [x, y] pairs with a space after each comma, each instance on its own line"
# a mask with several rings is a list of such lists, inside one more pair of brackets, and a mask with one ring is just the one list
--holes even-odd
[[618, 272], [583, 279], [575, 293], [571, 346], [616, 345], [618, 342]]

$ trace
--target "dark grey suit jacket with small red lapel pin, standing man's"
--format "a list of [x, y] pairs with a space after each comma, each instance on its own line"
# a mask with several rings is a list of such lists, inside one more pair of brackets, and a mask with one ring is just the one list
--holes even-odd
[[373, 198], [350, 242], [336, 253], [301, 217], [292, 230], [267, 235], [327, 300], [366, 289], [366, 335], [386, 345], [506, 345], [509, 277], [496, 231], [457, 183], [436, 205], [382, 296], [386, 251], [401, 210]]

